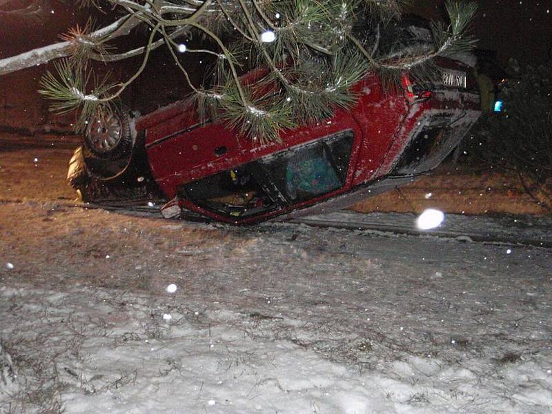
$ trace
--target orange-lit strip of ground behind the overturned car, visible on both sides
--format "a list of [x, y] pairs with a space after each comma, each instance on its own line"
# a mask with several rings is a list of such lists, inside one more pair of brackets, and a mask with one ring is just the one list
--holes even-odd
[[[65, 179], [72, 148], [78, 142], [78, 137], [0, 135], [0, 199], [75, 199]], [[351, 209], [359, 213], [420, 213], [430, 207], [466, 215], [545, 213], [513, 175], [493, 170], [473, 172], [451, 164], [440, 166], [433, 175], [400, 192], [366, 199]]]

